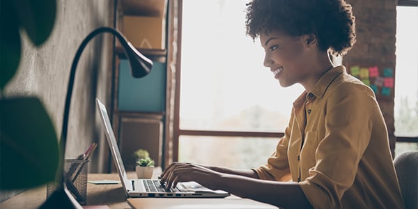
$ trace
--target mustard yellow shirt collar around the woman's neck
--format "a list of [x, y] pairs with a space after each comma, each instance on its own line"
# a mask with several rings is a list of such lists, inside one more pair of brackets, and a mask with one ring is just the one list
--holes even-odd
[[314, 85], [314, 88], [311, 92], [307, 93], [304, 91], [296, 100], [293, 102], [293, 107], [300, 107], [304, 102], [315, 100], [315, 98], [323, 98], [325, 91], [327, 91], [328, 86], [334, 81], [336, 77], [341, 75], [341, 73], [346, 72], [346, 68], [343, 65], [336, 66], [327, 70], [327, 72], [318, 79], [318, 82]]

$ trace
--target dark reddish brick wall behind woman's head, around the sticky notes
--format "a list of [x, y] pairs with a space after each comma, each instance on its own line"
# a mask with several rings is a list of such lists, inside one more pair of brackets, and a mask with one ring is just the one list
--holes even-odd
[[[379, 66], [392, 68], [396, 65], [396, 0], [346, 0], [353, 6], [356, 17], [357, 42], [344, 56], [345, 65], [361, 67]], [[389, 132], [389, 143], [394, 156], [394, 88], [388, 96], [378, 95], [378, 102]]]

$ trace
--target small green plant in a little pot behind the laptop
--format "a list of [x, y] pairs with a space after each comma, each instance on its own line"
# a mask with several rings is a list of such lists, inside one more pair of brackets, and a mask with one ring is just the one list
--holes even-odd
[[150, 154], [147, 150], [139, 149], [134, 152], [134, 156], [137, 158], [137, 166], [135, 172], [138, 178], [151, 178], [153, 177], [155, 162], [150, 158]]

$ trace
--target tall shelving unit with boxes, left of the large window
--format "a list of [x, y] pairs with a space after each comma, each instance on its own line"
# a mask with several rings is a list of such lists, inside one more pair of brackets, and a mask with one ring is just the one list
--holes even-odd
[[[133, 17], [152, 16], [165, 19], [166, 13], [167, 0], [118, 0], [115, 17], [116, 28], [124, 33], [124, 15]], [[163, 30], [163, 32], [166, 33], [166, 30]], [[124, 33], [124, 35], [130, 40], [127, 34]], [[156, 34], [155, 36], [166, 37], [165, 34]], [[131, 40], [132, 38], [137, 37], [131, 37]], [[150, 157], [155, 160], [156, 166], [162, 164], [165, 86], [167, 83], [167, 49], [165, 46], [160, 49], [141, 49], [137, 45], [135, 47], [144, 56], [151, 59], [155, 65], [146, 77], [141, 79], [127, 78], [126, 74], [129, 68], [125, 61], [125, 52], [116, 42], [113, 125], [123, 162], [128, 170], [134, 169], [135, 160], [132, 154], [134, 150], [139, 148], [148, 150]], [[132, 96], [130, 96], [130, 93], [132, 93]], [[158, 105], [153, 105], [155, 101], [151, 100], [157, 100]], [[123, 105], [129, 102], [134, 102], [134, 104]], [[148, 102], [149, 104], [146, 106], [141, 102]]]

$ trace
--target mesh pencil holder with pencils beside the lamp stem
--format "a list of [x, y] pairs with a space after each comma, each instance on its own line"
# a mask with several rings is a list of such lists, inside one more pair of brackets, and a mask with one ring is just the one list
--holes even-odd
[[[80, 203], [86, 204], [88, 160], [65, 160], [64, 182], [68, 191]], [[47, 198], [55, 191], [56, 185], [47, 185]]]

